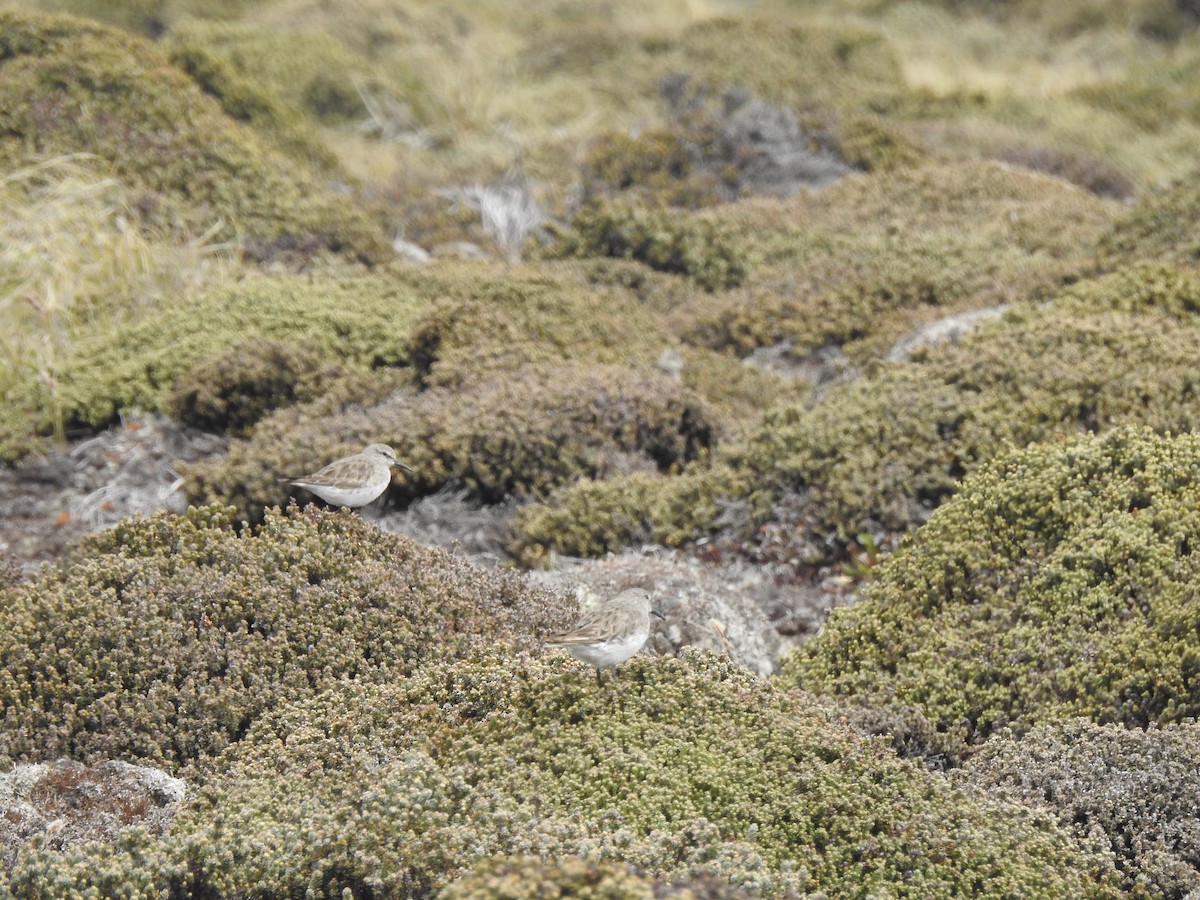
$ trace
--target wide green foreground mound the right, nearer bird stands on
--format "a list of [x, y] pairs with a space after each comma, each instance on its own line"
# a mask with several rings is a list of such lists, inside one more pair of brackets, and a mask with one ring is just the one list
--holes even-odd
[[157, 845], [30, 850], [11, 888], [120, 871], [175, 894], [432, 895], [490, 857], [576, 878], [587, 856], [774, 896], [1117, 895], [1111, 860], [1045, 814], [970, 799], [696, 653], [608, 688], [511, 653], [341, 682], [260, 718], [218, 770]]

